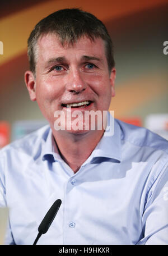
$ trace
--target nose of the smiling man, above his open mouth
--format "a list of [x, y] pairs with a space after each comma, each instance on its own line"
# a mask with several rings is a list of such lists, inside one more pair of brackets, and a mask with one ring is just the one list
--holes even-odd
[[86, 90], [87, 84], [83, 80], [79, 70], [69, 71], [67, 90], [70, 93], [79, 94]]

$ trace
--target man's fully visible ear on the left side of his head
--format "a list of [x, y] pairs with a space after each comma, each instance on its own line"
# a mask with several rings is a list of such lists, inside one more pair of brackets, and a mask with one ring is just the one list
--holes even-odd
[[36, 100], [36, 93], [35, 93], [36, 83], [35, 83], [35, 77], [31, 71], [25, 72], [25, 84], [29, 92], [30, 99], [32, 101], [35, 101]]

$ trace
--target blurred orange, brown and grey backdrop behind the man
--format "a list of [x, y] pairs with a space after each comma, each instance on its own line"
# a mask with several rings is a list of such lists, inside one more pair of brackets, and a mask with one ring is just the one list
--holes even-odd
[[93, 13], [111, 35], [116, 96], [110, 109], [115, 117], [168, 139], [167, 0], [8, 0], [1, 1], [0, 9], [0, 147], [46, 124], [24, 83], [27, 38], [39, 20], [71, 7]]

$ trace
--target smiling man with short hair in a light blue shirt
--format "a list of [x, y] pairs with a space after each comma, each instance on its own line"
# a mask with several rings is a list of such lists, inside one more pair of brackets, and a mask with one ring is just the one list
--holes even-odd
[[[35, 26], [28, 54], [26, 86], [49, 126], [1, 150], [6, 244], [33, 244], [58, 198], [57, 217], [38, 244], [168, 244], [167, 141], [119, 120], [108, 136], [100, 115], [115, 95], [105, 26], [78, 9], [54, 12]], [[102, 117], [95, 129], [87, 111]]]

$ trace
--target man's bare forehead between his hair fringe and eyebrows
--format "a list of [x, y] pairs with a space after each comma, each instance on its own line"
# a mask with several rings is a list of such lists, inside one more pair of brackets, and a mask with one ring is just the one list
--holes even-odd
[[105, 58], [105, 43], [101, 38], [96, 38], [94, 41], [87, 36], [83, 36], [72, 44], [62, 43], [55, 34], [43, 35], [38, 39], [37, 43], [38, 57], [45, 60], [51, 57], [57, 57], [62, 54], [90, 54], [92, 56]]

